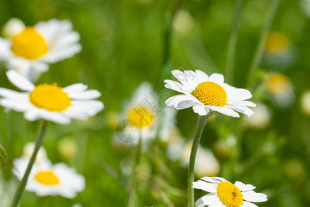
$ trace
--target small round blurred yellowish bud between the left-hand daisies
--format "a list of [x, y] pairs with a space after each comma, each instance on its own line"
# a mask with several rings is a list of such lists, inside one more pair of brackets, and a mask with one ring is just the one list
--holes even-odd
[[65, 159], [72, 159], [77, 155], [78, 146], [74, 139], [65, 137], [58, 142], [57, 150], [59, 154]]

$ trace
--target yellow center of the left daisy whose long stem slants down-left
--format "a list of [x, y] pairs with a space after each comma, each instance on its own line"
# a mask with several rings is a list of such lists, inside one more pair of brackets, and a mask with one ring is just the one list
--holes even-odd
[[29, 94], [30, 102], [37, 108], [62, 111], [70, 106], [71, 99], [56, 83], [36, 86]]

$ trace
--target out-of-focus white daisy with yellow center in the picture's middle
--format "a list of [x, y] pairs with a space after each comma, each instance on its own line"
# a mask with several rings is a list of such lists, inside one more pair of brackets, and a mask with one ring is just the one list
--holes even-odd
[[[119, 118], [124, 122], [122, 126], [125, 126], [121, 128], [121, 132], [116, 132], [119, 141], [137, 144], [138, 139], [142, 139], [145, 148], [147, 142], [155, 137], [158, 127], [161, 127], [159, 135], [162, 139], [169, 136], [169, 129], [175, 124], [176, 111], [172, 108], [159, 111], [158, 101], [152, 96], [152, 92], [151, 84], [143, 82], [135, 90], [132, 99], [125, 102]], [[159, 116], [163, 116], [162, 124], [158, 123]]]

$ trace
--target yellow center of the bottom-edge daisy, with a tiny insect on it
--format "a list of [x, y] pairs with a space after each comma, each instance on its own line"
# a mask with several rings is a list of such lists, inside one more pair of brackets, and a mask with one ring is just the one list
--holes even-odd
[[239, 207], [242, 205], [243, 198], [241, 191], [229, 182], [220, 182], [216, 188], [218, 198], [227, 207]]

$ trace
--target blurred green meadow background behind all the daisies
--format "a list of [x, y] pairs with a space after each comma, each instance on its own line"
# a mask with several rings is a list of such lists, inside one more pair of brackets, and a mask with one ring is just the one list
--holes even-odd
[[[253, 129], [245, 126], [244, 115], [240, 119], [216, 115], [216, 119], [207, 124], [201, 144], [214, 150], [221, 167], [218, 176], [253, 184], [257, 192], [268, 195], [269, 200], [258, 206], [309, 206], [310, 115], [302, 112], [300, 96], [310, 89], [310, 16], [302, 12], [300, 1], [280, 1], [271, 26], [272, 31], [281, 32], [289, 39], [291, 48], [287, 50], [291, 50], [289, 55], [293, 60], [282, 66], [281, 61], [268, 61], [265, 52], [255, 81], [247, 86], [249, 68], [270, 3], [270, 0], [242, 1], [234, 79], [229, 82], [251, 90], [252, 101], [265, 103], [270, 122], [264, 128]], [[76, 168], [85, 176], [85, 190], [74, 199], [37, 197], [25, 192], [21, 206], [77, 203], [125, 206], [127, 177], [122, 175], [121, 164], [124, 160], [131, 162], [134, 148], [124, 150], [112, 145], [115, 128], [109, 124], [111, 114], [122, 110], [122, 101], [129, 99], [141, 82], [149, 81], [156, 87], [169, 78], [167, 74], [162, 75], [163, 68], [172, 70], [182, 66], [207, 74], [225, 74], [235, 1], [183, 1], [174, 16], [169, 57], [165, 56], [169, 59], [163, 66], [167, 48], [165, 31], [169, 30], [167, 22], [174, 14], [175, 5], [175, 1], [165, 0], [0, 0], [0, 26], [12, 17], [22, 19], [28, 26], [52, 18], [70, 19], [74, 30], [81, 34], [82, 52], [52, 64], [37, 83], [55, 81], [59, 86], [85, 83], [99, 90], [102, 93], [99, 100], [105, 103], [103, 112], [89, 121], [72, 121], [69, 126], [50, 123], [45, 137], [44, 147], [50, 160], [63, 161]], [[276, 58], [271, 55], [271, 59]], [[0, 86], [12, 88], [4, 64], [0, 69]], [[273, 95], [267, 95], [262, 89], [266, 75], [275, 71], [286, 75], [291, 83], [295, 99], [289, 106], [278, 106]], [[181, 110], [177, 120], [182, 135], [191, 138], [196, 114], [192, 109]], [[26, 143], [34, 141], [39, 124], [40, 121], [26, 121], [19, 112], [0, 109], [0, 143], [12, 159], [22, 155]], [[236, 146], [225, 148], [223, 155], [223, 149], [218, 150], [218, 140], [227, 143], [230, 134], [236, 136]], [[64, 138], [73, 140], [78, 149], [70, 158], [57, 150], [59, 141]], [[165, 157], [165, 146], [153, 146], [143, 154], [141, 165], [150, 177], [144, 179], [141, 175], [136, 206], [187, 205], [187, 169]], [[107, 172], [107, 168], [113, 168], [115, 173]], [[0, 176], [1, 186], [14, 193], [18, 183], [11, 168], [1, 167]], [[195, 192], [196, 199], [204, 195], [202, 190]]]

